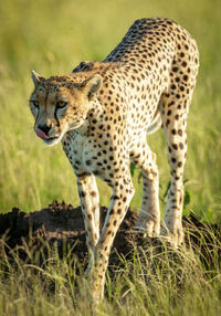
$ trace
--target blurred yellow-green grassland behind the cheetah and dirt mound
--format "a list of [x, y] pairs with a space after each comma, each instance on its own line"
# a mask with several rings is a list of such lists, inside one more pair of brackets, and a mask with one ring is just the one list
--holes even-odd
[[[168, 17], [198, 42], [200, 73], [189, 122], [185, 179], [189, 204], [221, 220], [221, 1], [220, 0], [9, 0], [0, 1], [0, 210], [33, 211], [52, 200], [78, 204], [75, 177], [61, 145], [46, 147], [33, 133], [28, 99], [31, 70], [44, 76], [70, 73], [81, 61], [102, 61], [136, 19]], [[160, 203], [169, 181], [162, 131], [148, 137], [160, 171]], [[135, 209], [141, 202], [135, 171]], [[101, 186], [101, 203], [110, 190]]]

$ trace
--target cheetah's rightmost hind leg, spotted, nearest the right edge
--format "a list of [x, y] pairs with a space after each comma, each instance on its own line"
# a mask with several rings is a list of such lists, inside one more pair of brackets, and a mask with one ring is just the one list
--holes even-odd
[[[168, 159], [170, 166], [170, 189], [166, 207], [164, 228], [160, 234], [176, 249], [183, 243], [182, 228], [183, 203], [183, 170], [187, 156], [187, 108], [189, 99], [177, 101], [173, 95], [165, 96], [162, 126], [168, 146]], [[186, 108], [187, 107], [187, 108]]]

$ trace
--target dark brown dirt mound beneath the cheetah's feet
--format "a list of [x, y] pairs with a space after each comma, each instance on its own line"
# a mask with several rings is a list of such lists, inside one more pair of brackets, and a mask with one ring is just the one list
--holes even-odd
[[[107, 209], [101, 208], [101, 222]], [[119, 256], [130, 257], [135, 246], [148, 249], [149, 245], [158, 245], [157, 239], [144, 238], [135, 231], [137, 213], [128, 210], [119, 231], [117, 232], [112, 255], [110, 265], [119, 262]], [[73, 208], [65, 202], [54, 201], [48, 208], [32, 213], [24, 213], [14, 208], [7, 214], [0, 214], [0, 238], [4, 245], [4, 252], [10, 256], [11, 250], [15, 250], [19, 257], [29, 261], [30, 254], [27, 247], [32, 249], [32, 255], [41, 253], [39, 264], [50, 256], [50, 249], [56, 245], [60, 256], [65, 255], [66, 250], [72, 249], [82, 263], [87, 263], [87, 249], [85, 244], [85, 231], [81, 208]], [[221, 259], [221, 225], [200, 221], [194, 214], [183, 218], [186, 228], [186, 245], [192, 246], [201, 259], [208, 264]], [[43, 249], [43, 252], [42, 252]], [[114, 251], [115, 250], [115, 251]], [[2, 250], [1, 250], [2, 251]], [[215, 253], [215, 255], [213, 255]]]

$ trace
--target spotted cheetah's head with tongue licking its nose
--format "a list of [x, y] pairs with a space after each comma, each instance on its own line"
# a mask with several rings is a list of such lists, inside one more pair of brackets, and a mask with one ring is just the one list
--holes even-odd
[[71, 75], [45, 80], [32, 72], [32, 80], [30, 107], [35, 118], [34, 131], [46, 145], [57, 144], [66, 131], [85, 123], [102, 85], [99, 74], [76, 83]]

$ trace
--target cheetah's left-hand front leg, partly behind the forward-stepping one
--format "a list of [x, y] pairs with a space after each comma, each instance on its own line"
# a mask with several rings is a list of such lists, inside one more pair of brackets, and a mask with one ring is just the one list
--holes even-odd
[[77, 188], [88, 249], [88, 266], [85, 271], [85, 275], [87, 275], [94, 265], [94, 252], [99, 238], [99, 194], [96, 180], [93, 175], [78, 176]]

